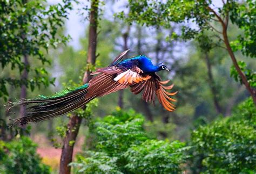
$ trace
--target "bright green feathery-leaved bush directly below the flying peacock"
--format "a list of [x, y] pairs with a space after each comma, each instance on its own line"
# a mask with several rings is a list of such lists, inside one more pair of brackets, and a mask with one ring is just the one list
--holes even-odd
[[98, 120], [93, 126], [96, 134], [95, 151], [79, 155], [71, 163], [75, 170], [85, 173], [159, 173], [180, 172], [185, 162], [184, 143], [149, 139], [143, 129], [143, 117], [133, 110], [118, 109]]

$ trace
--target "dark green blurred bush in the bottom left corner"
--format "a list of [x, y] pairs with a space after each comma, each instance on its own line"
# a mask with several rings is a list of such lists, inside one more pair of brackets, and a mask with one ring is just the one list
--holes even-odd
[[29, 137], [11, 142], [0, 141], [1, 173], [50, 173], [49, 166], [41, 163], [36, 144]]

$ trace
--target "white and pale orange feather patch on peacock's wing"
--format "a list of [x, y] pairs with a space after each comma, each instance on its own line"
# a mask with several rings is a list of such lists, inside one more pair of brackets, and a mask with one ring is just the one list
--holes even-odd
[[[140, 70], [142, 71], [142, 70]], [[133, 84], [146, 81], [150, 79], [151, 76], [147, 75], [146, 77], [140, 76], [138, 73], [132, 71], [131, 69], [125, 71], [124, 73], [119, 74], [114, 78], [114, 81], [119, 82], [120, 84], [130, 83]]]

